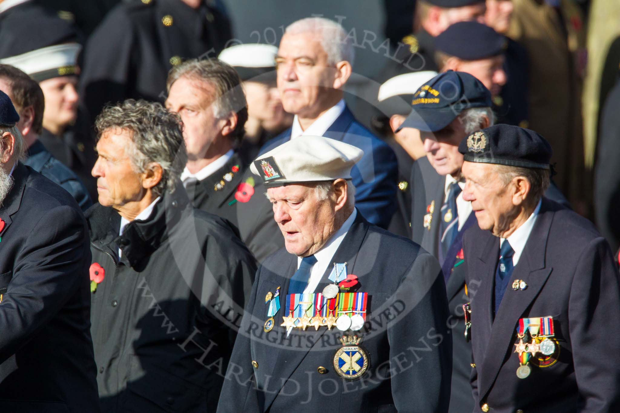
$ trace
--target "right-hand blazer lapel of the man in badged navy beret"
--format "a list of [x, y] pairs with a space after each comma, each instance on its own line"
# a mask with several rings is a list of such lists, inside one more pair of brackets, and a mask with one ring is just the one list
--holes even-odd
[[[479, 369], [479, 372], [480, 370], [484, 372], [484, 375], [480, 375], [479, 381], [480, 399], [484, 398], [490, 391], [505, 359], [510, 357], [513, 352], [516, 323], [523, 317], [525, 310], [536, 298], [552, 271], [552, 267], [545, 267], [545, 252], [553, 212], [543, 209], [541, 208], [539, 212], [519, 263], [511, 276], [511, 280], [524, 280], [527, 288], [525, 290], [513, 290], [510, 280], [502, 298], [502, 304], [497, 315], [495, 315], [495, 321], [492, 323], [489, 343]], [[495, 270], [495, 266], [493, 269]], [[492, 276], [495, 277], [495, 274]], [[492, 293], [494, 283], [487, 284], [491, 285]], [[489, 302], [492, 305], [492, 300]], [[489, 314], [490, 311], [492, 309], [489, 309]]]

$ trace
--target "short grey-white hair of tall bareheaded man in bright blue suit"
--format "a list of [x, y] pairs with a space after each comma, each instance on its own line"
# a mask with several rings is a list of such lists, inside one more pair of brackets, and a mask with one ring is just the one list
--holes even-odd
[[321, 46], [327, 53], [327, 63], [336, 64], [347, 61], [353, 66], [355, 49], [353, 41], [347, 36], [347, 32], [334, 20], [324, 17], [306, 17], [297, 20], [286, 27], [285, 34], [298, 35], [301, 33], [314, 33], [321, 36]]

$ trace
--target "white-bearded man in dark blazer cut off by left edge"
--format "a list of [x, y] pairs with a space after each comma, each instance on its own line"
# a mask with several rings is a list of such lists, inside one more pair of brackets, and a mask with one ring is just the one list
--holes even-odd
[[0, 92], [0, 405], [98, 412], [86, 221], [67, 191], [19, 162], [18, 120]]

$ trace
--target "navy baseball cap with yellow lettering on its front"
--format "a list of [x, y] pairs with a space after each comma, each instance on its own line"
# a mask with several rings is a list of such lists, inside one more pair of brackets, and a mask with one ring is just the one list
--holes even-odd
[[480, 80], [465, 72], [440, 73], [414, 93], [412, 110], [396, 130], [415, 128], [436, 132], [448, 126], [462, 111], [490, 108], [491, 92]]

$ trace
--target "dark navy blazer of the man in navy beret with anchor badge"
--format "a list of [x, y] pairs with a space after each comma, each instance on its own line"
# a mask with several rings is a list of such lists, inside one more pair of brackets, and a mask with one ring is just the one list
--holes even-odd
[[[620, 411], [620, 285], [608, 243], [594, 226], [557, 202], [542, 199], [536, 223], [495, 320], [493, 297], [499, 238], [474, 225], [464, 235], [471, 298], [472, 389], [479, 411]], [[474, 289], [474, 285], [476, 288]], [[560, 351], [544, 368], [516, 376], [520, 318], [552, 316]]]

